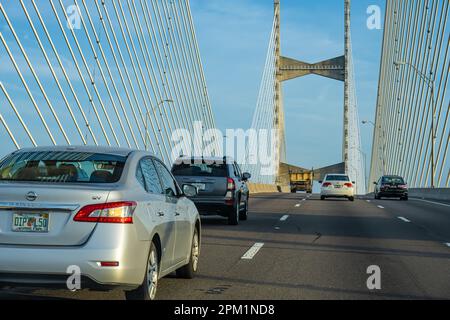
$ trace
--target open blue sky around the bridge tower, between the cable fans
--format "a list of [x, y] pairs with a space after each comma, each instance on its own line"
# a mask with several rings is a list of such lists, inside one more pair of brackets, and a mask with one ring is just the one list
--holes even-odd
[[[352, 38], [361, 119], [373, 120], [383, 30], [369, 30], [367, 8], [385, 1], [352, 4]], [[306, 62], [344, 51], [344, 1], [281, 1], [282, 54]], [[272, 0], [191, 0], [216, 123], [248, 128], [273, 19]], [[308, 76], [284, 84], [288, 162], [321, 167], [341, 161], [343, 83]], [[362, 126], [370, 158], [371, 126]]]

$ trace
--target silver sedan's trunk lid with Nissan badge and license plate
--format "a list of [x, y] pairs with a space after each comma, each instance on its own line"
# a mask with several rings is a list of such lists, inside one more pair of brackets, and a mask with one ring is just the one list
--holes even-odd
[[[33, 200], [34, 195], [36, 199]], [[106, 202], [108, 195], [109, 191], [104, 186], [95, 184], [77, 184], [74, 188], [73, 184], [1, 183], [0, 244], [83, 245], [94, 231], [96, 223], [75, 222], [73, 217], [86, 205]], [[14, 219], [28, 214], [38, 217], [45, 215], [48, 218], [48, 230], [24, 231], [13, 226]]]

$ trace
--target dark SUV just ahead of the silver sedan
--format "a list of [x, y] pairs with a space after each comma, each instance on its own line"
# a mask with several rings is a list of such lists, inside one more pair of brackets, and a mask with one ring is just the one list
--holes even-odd
[[220, 215], [230, 225], [247, 220], [251, 175], [242, 173], [230, 158], [179, 158], [172, 174], [180, 185], [190, 184], [198, 189], [191, 197], [201, 215]]

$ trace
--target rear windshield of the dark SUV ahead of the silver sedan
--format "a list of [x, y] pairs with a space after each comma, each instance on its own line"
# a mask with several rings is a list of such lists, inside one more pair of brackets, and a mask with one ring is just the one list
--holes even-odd
[[174, 176], [227, 177], [227, 165], [224, 163], [181, 163], [172, 168]]

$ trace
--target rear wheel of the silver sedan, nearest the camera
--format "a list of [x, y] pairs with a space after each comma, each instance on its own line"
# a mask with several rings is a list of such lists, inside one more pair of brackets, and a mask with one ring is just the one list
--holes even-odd
[[148, 255], [147, 267], [145, 272], [144, 282], [139, 288], [126, 291], [125, 297], [127, 300], [155, 300], [156, 290], [159, 280], [159, 258], [158, 250], [152, 242], [150, 246], [150, 253]]

